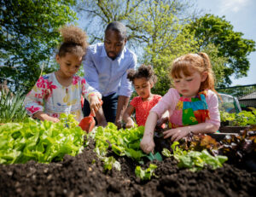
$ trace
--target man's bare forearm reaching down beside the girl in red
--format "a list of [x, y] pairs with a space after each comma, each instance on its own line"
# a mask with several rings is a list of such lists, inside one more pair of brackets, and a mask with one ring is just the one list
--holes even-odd
[[122, 127], [121, 121], [122, 121], [125, 109], [128, 105], [129, 99], [130, 97], [127, 97], [127, 96], [119, 96], [118, 107], [117, 107], [116, 118], [115, 118], [115, 125], [117, 125], [119, 129]]

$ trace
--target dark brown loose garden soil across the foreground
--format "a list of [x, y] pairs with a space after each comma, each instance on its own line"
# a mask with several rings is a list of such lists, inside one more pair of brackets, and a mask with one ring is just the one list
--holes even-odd
[[115, 156], [122, 171], [104, 172], [93, 148], [90, 143], [82, 154], [66, 155], [61, 162], [0, 165], [0, 197], [256, 195], [256, 172], [243, 165], [224, 164], [215, 171], [191, 172], [178, 169], [177, 161], [167, 158], [154, 162], [158, 178], [140, 181], [134, 173], [136, 162], [126, 157]]

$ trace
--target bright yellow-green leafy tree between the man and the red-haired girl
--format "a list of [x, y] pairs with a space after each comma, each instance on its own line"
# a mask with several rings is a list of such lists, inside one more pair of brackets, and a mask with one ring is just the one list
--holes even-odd
[[[180, 5], [178, 5], [180, 6]], [[178, 19], [177, 4], [153, 1], [144, 13], [138, 14], [136, 24], [144, 37], [143, 63], [154, 66], [158, 83], [154, 93], [164, 95], [170, 88], [169, 71], [172, 61], [180, 55], [195, 51], [193, 36], [183, 31], [187, 19]], [[131, 23], [132, 24], [132, 23]]]

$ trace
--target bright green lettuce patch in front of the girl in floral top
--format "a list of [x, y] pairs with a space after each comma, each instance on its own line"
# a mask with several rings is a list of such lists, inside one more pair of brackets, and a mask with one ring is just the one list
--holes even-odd
[[0, 126], [0, 163], [16, 164], [35, 160], [49, 163], [65, 154], [75, 156], [84, 149], [84, 130], [72, 114], [61, 114], [61, 121], [25, 119], [22, 123]]

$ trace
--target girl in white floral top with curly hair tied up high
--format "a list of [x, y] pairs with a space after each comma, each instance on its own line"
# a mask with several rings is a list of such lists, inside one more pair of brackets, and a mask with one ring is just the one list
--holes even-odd
[[40, 77], [26, 95], [24, 106], [33, 118], [59, 122], [61, 113], [72, 113], [80, 121], [84, 118], [81, 96], [90, 102], [96, 113], [101, 107], [101, 94], [75, 74], [79, 71], [88, 47], [87, 36], [76, 26], [61, 28], [63, 43], [55, 56], [59, 70]]

